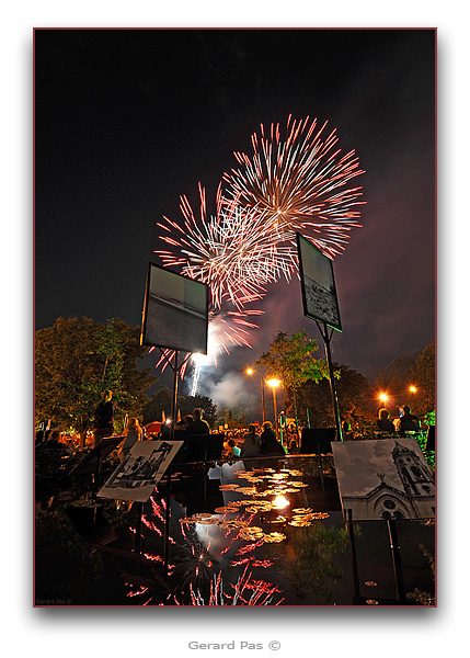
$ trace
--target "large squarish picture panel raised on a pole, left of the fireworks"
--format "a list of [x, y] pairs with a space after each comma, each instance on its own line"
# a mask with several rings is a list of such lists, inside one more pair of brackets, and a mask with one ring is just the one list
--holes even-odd
[[207, 354], [208, 287], [149, 263], [140, 344]]

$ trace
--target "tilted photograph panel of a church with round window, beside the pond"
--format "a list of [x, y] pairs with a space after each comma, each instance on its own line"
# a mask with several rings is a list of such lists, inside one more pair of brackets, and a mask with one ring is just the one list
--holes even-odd
[[415, 439], [335, 442], [333, 454], [346, 519], [434, 519], [434, 475]]

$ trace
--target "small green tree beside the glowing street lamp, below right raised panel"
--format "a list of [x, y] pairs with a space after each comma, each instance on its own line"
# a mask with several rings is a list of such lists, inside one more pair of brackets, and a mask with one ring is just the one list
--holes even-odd
[[297, 430], [296, 392], [309, 379], [319, 382], [329, 378], [328, 363], [324, 359], [312, 358], [317, 350], [317, 341], [308, 338], [305, 329], [293, 333], [290, 338], [279, 331], [268, 351], [255, 362], [266, 370], [267, 377], [282, 379], [284, 389], [291, 394]]

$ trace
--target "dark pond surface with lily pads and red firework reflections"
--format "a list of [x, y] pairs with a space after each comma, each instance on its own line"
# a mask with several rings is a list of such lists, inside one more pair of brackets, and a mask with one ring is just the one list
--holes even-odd
[[[50, 496], [47, 480], [36, 517], [37, 599], [81, 605], [349, 605], [351, 545], [334, 477], [320, 481], [303, 457], [297, 468], [257, 466], [238, 462], [209, 474], [181, 467], [171, 496], [160, 483], [144, 504], [141, 554], [136, 506], [107, 500], [99, 510], [82, 509], [79, 500], [70, 503], [74, 484], [76, 491], [69, 481], [61, 491], [50, 479], [47, 486], [58, 490]], [[383, 527], [367, 522], [356, 534], [355, 525], [363, 604], [393, 603]], [[434, 527], [408, 521], [399, 535], [409, 604], [433, 604]]]

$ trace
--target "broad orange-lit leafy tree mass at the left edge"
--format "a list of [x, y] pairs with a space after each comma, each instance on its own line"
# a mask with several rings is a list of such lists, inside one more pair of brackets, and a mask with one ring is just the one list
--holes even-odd
[[54, 419], [80, 432], [82, 442], [104, 389], [113, 390], [116, 419], [139, 415], [145, 390], [156, 377], [139, 370], [147, 352], [139, 344], [139, 328], [113, 318], [94, 324], [91, 318], [57, 318], [53, 327], [35, 334], [36, 422]]

